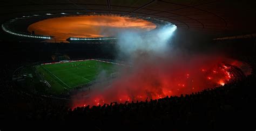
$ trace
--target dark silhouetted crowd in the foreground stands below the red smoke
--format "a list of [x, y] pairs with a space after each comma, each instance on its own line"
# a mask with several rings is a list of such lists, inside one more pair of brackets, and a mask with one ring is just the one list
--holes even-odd
[[[250, 58], [247, 61], [255, 71], [256, 59]], [[117, 125], [123, 126], [123, 130], [179, 130], [188, 127], [214, 129], [232, 125], [255, 128], [254, 72], [240, 81], [192, 94], [71, 109], [69, 100], [17, 90], [18, 87], [11, 82], [8, 64], [2, 65], [1, 69], [1, 120], [79, 121], [97, 130], [109, 130]]]

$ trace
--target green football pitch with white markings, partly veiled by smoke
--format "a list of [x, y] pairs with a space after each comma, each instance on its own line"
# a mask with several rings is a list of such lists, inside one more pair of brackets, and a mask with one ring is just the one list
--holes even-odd
[[36, 66], [38, 74], [50, 84], [54, 93], [77, 88], [95, 81], [101, 73], [110, 77], [116, 72], [118, 64], [97, 60], [75, 61], [66, 63], [42, 64]]

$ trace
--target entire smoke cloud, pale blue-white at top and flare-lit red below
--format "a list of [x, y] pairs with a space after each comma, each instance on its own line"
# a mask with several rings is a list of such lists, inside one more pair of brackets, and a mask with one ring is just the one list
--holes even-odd
[[175, 30], [176, 26], [164, 26], [146, 35], [120, 33], [117, 57], [125, 58], [132, 67], [121, 68], [117, 78], [76, 94], [72, 107], [179, 96], [232, 81], [231, 66], [224, 64], [223, 57], [174, 52]]

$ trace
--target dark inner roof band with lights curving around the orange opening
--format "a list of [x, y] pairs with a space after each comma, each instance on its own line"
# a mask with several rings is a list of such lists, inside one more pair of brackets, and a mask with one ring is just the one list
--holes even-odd
[[[49, 35], [38, 35], [30, 33], [27, 28], [29, 25], [36, 23], [37, 21], [45, 20], [45, 19], [52, 19], [58, 17], [71, 17], [71, 16], [112, 16], [112, 17], [125, 17], [125, 18], [133, 18], [133, 19], [141, 19], [149, 21], [153, 24], [156, 24], [157, 27], [159, 26], [176, 26], [169, 21], [159, 20], [156, 18], [150, 17], [142, 17], [142, 16], [135, 16], [135, 15], [123, 15], [123, 14], [108, 14], [108, 13], [51, 13], [49, 14], [35, 14], [31, 16], [21, 16], [14, 19], [10, 19], [2, 24], [2, 29], [10, 34], [18, 35], [21, 37], [29, 37], [29, 38], [41, 38], [41, 39], [51, 39], [52, 36]], [[176, 26], [177, 27], [177, 26]]]

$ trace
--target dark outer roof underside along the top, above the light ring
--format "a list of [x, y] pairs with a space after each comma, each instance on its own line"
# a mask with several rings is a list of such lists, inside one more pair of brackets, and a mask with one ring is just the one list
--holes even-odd
[[4, 23], [22, 16], [52, 13], [129, 14], [176, 24], [178, 29], [220, 36], [256, 32], [256, 1], [212, 0], [3, 0]]

